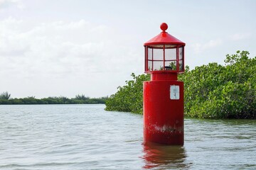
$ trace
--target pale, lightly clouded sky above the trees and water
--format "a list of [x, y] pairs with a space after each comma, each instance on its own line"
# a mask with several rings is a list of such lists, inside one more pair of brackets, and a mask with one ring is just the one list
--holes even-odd
[[110, 96], [144, 74], [161, 23], [186, 43], [185, 64], [256, 56], [254, 0], [0, 0], [0, 93]]

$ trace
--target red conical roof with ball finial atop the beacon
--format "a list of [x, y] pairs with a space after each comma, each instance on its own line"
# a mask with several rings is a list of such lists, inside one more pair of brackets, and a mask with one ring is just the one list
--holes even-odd
[[161, 30], [163, 30], [159, 35], [156, 35], [154, 38], [151, 38], [149, 41], [145, 42], [144, 45], [184, 45], [185, 43], [181, 40], [178, 40], [173, 35], [170, 35], [165, 30], [167, 30], [168, 26], [166, 23], [162, 23], [160, 26]]

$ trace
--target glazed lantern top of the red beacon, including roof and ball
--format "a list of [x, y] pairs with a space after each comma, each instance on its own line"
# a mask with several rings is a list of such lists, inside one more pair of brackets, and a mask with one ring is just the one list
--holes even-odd
[[160, 28], [159, 35], [144, 43], [145, 73], [184, 72], [185, 43], [166, 32], [166, 23]]

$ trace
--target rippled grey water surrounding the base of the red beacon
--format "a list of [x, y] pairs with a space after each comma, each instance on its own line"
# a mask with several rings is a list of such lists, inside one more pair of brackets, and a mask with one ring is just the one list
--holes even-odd
[[0, 169], [256, 169], [255, 120], [185, 120], [185, 145], [143, 144], [142, 115], [105, 105], [0, 106]]

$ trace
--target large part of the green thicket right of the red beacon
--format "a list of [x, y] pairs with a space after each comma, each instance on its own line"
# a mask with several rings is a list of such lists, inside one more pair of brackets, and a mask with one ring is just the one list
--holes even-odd
[[256, 118], [256, 57], [226, 55], [226, 66], [210, 63], [181, 75], [185, 115], [191, 118]]

